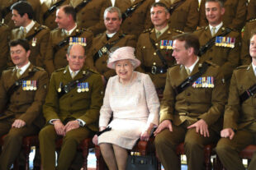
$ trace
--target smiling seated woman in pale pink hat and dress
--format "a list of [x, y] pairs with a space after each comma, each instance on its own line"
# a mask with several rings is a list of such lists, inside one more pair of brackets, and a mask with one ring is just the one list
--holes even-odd
[[[122, 47], [111, 53], [107, 67], [116, 69], [116, 76], [107, 82], [100, 111], [100, 131], [111, 131], [94, 136], [110, 170], [125, 170], [127, 149], [138, 139], [149, 140], [154, 126], [159, 125], [159, 99], [150, 77], [134, 69], [140, 66], [135, 48]], [[110, 121], [112, 117], [112, 121]]]

